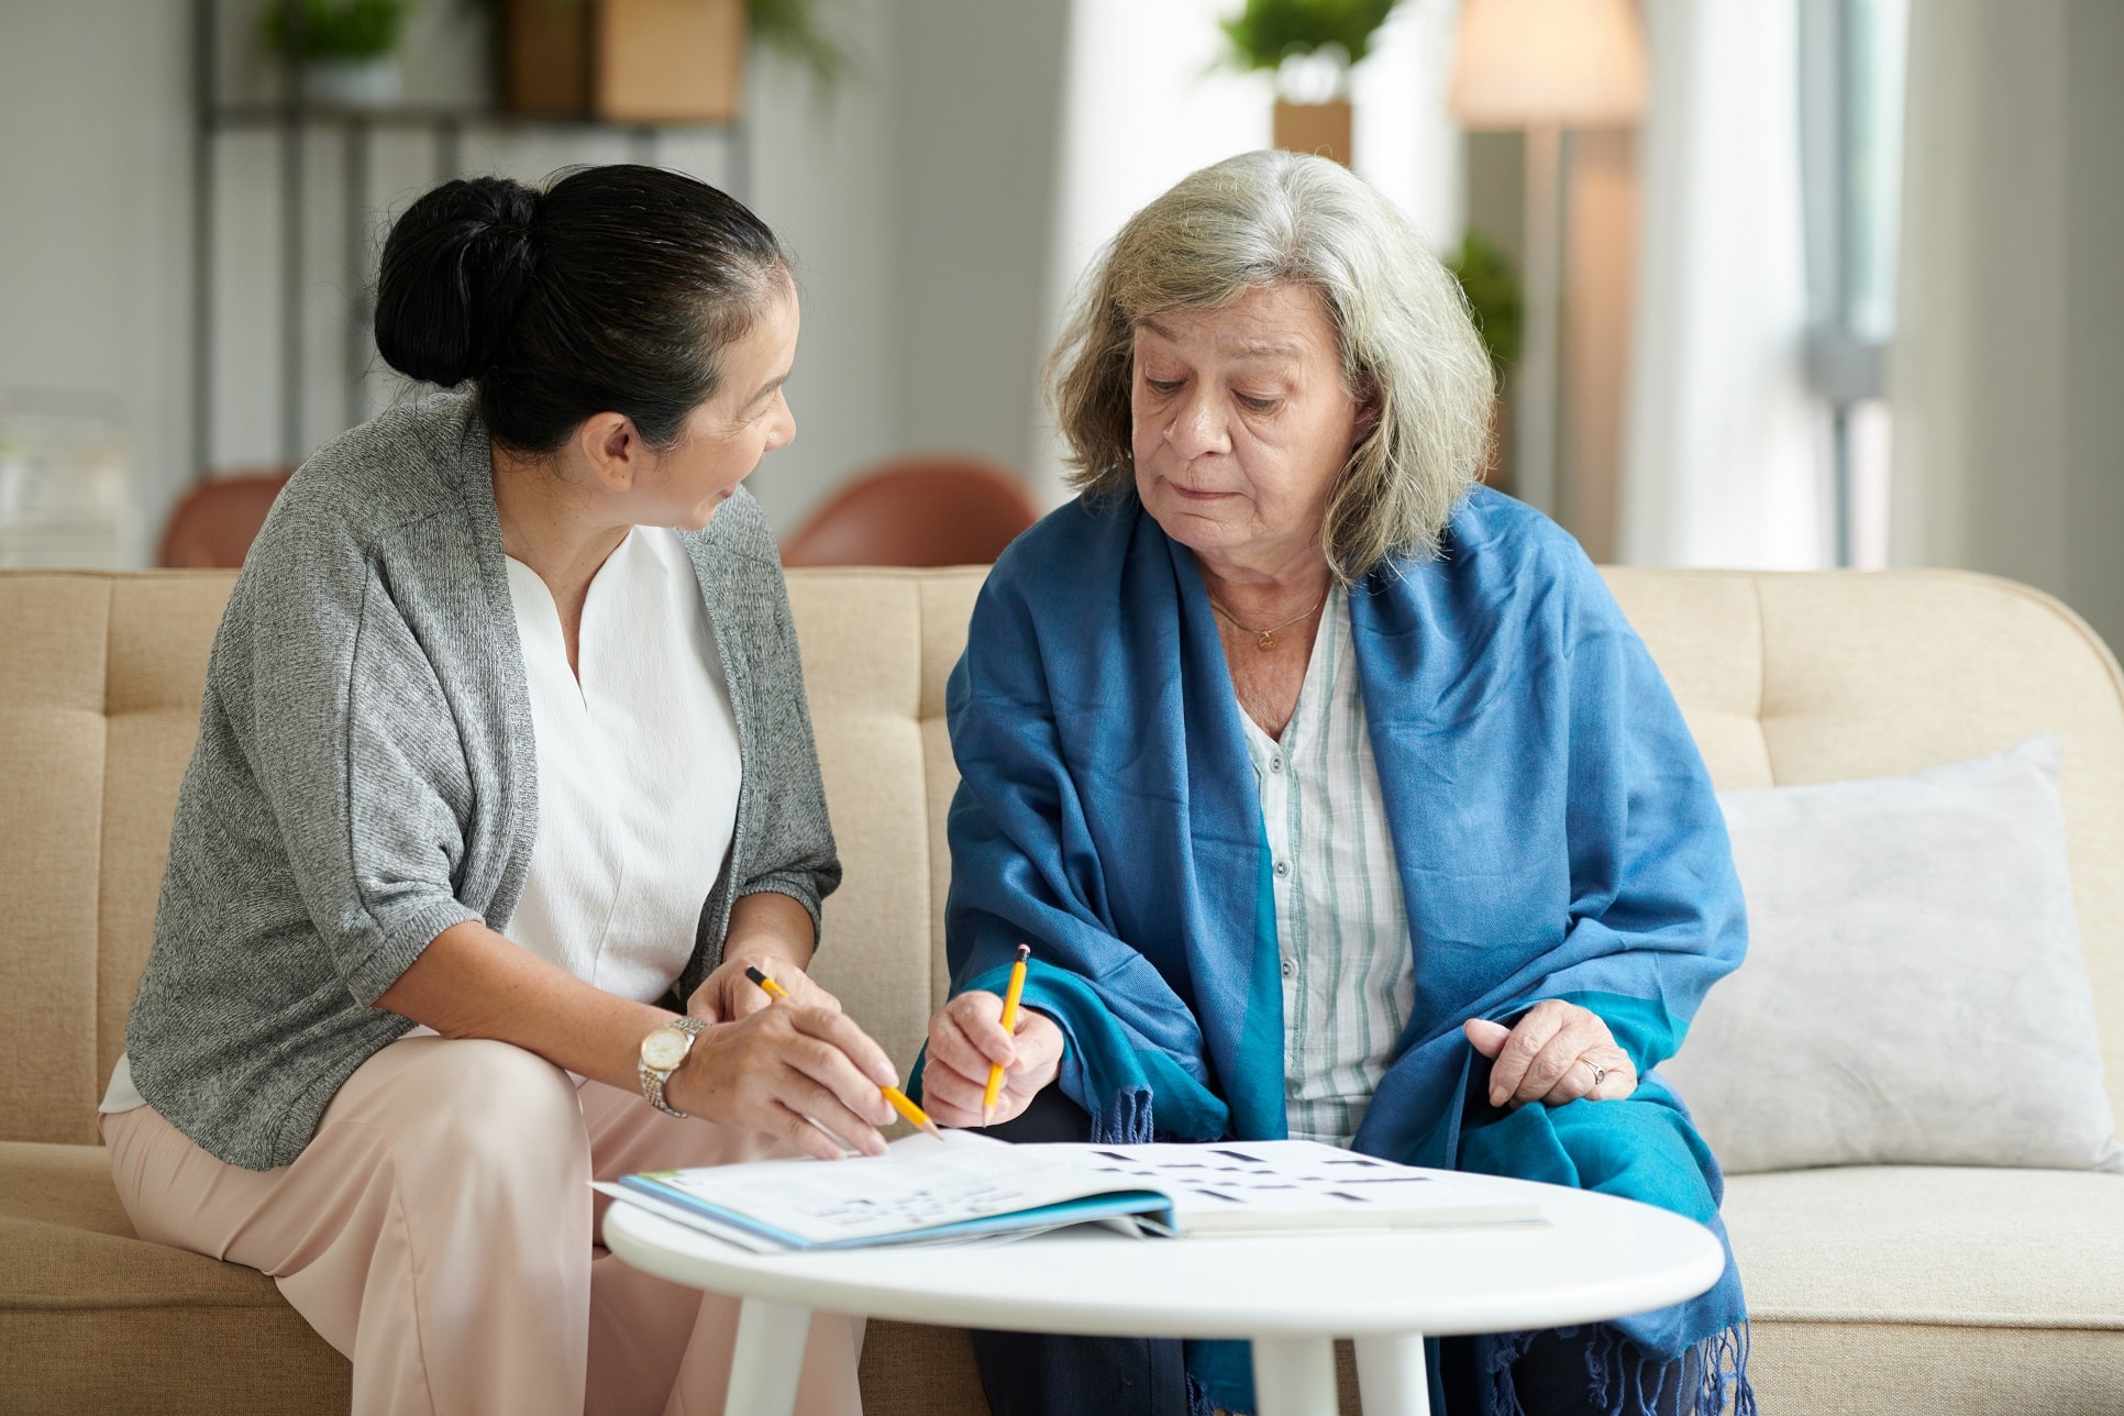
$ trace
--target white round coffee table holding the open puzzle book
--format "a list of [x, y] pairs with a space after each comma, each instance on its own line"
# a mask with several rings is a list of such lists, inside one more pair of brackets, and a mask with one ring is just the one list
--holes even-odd
[[1587, 1191], [1470, 1176], [1534, 1199], [1538, 1227], [1136, 1240], [1077, 1227], [1013, 1244], [754, 1255], [627, 1204], [605, 1246], [746, 1299], [726, 1412], [784, 1416], [811, 1310], [1085, 1337], [1247, 1337], [1257, 1416], [1336, 1416], [1351, 1337], [1366, 1416], [1423, 1416], [1423, 1337], [1595, 1323], [1710, 1289], [1703, 1225]]

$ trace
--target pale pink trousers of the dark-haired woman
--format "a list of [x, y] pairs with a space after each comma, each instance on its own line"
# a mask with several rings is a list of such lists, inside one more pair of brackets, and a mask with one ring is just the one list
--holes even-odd
[[[272, 1274], [353, 1361], [355, 1416], [720, 1412], [739, 1301], [605, 1253], [590, 1180], [794, 1155], [435, 1036], [361, 1064], [280, 1170], [227, 1165], [147, 1106], [102, 1134], [140, 1238]], [[799, 1412], [860, 1414], [860, 1320], [811, 1320]]]

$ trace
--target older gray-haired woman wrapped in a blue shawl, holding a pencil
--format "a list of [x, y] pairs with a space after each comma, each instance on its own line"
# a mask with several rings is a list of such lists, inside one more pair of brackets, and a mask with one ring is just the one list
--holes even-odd
[[[930, 1115], [1300, 1136], [1718, 1225], [1652, 1068], [1740, 964], [1710, 777], [1570, 535], [1476, 486], [1453, 278], [1342, 168], [1249, 153], [1115, 238], [1049, 363], [1081, 497], [981, 590]], [[1032, 945], [1015, 1032], [998, 991]], [[1740, 1278], [1434, 1348], [1434, 1410], [1752, 1410]], [[998, 1416], [1251, 1410], [1240, 1344], [977, 1335]]]

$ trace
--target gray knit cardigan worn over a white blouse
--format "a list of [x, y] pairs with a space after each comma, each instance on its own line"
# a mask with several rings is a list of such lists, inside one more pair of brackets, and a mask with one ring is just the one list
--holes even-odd
[[[486, 446], [465, 393], [325, 444], [221, 616], [125, 1053], [140, 1095], [232, 1165], [293, 1161], [412, 1028], [376, 998], [442, 930], [506, 930], [523, 894], [537, 747]], [[739, 490], [682, 539], [743, 760], [692, 991], [733, 900], [775, 890], [816, 926], [841, 866], [767, 520]]]

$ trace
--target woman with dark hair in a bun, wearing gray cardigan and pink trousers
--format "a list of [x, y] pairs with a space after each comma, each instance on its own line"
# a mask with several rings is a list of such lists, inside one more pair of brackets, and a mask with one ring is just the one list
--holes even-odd
[[[119, 1197], [272, 1274], [355, 1412], [716, 1410], [737, 1303], [597, 1248], [590, 1180], [877, 1153], [894, 1081], [805, 977], [841, 870], [739, 488], [794, 435], [788, 261], [614, 166], [438, 187], [376, 295], [382, 357], [469, 388], [319, 448], [236, 582]], [[856, 1346], [818, 1320], [803, 1410], [860, 1410]]]

